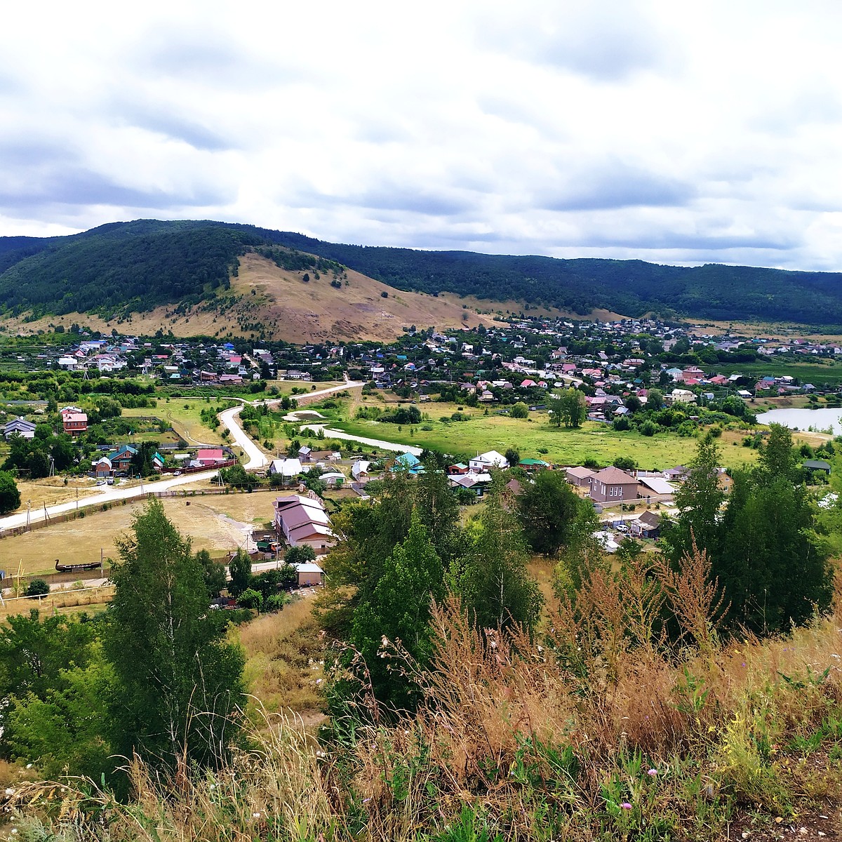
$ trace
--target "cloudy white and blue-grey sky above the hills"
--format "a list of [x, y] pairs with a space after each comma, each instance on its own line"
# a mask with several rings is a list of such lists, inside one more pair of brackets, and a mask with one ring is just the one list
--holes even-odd
[[838, 0], [15, 3], [0, 236], [842, 269]]

